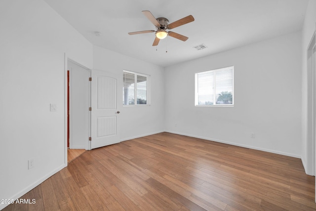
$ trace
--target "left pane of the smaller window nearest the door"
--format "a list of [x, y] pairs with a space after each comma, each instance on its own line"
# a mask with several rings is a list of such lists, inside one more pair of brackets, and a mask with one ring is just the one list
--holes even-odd
[[135, 74], [123, 72], [123, 105], [134, 105]]

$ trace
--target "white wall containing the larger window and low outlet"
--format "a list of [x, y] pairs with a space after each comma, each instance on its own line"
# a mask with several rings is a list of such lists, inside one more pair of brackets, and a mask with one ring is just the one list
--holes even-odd
[[[195, 73], [228, 66], [235, 106], [195, 107]], [[167, 67], [165, 96], [169, 132], [300, 158], [301, 33]]]

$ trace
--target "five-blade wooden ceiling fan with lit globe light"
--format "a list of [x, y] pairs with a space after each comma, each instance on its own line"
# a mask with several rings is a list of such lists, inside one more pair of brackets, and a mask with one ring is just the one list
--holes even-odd
[[166, 18], [155, 18], [155, 16], [148, 10], [142, 11], [142, 13], [156, 26], [157, 31], [155, 30], [146, 30], [146, 31], [139, 31], [139, 32], [130, 32], [129, 35], [137, 35], [137, 34], [144, 34], [144, 33], [152, 33], [156, 32], [156, 38], [153, 43], [153, 46], [158, 45], [161, 39], [166, 38], [168, 35], [170, 37], [176, 38], [181, 41], [186, 41], [189, 38], [183, 35], [180, 35], [175, 32], [167, 32], [167, 29], [174, 29], [178, 26], [182, 26], [184, 24], [190, 23], [194, 21], [194, 17], [192, 15], [188, 15], [187, 17], [181, 18], [173, 23], [169, 24], [169, 20]]

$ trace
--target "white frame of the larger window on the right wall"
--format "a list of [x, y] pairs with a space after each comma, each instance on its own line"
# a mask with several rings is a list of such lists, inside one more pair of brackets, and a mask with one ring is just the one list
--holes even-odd
[[[232, 99], [232, 104], [213, 104], [213, 105], [198, 105], [198, 88], [197, 88], [197, 74], [199, 73], [205, 73], [205, 72], [213, 72], [213, 73], [216, 73], [216, 72], [220, 72], [220, 71], [225, 71], [225, 70], [232, 70], [232, 95], [233, 95], [233, 99]], [[204, 70], [204, 71], [199, 71], [199, 72], [196, 72], [195, 73], [195, 101], [194, 101], [194, 104], [195, 106], [197, 107], [203, 107], [203, 106], [206, 106], [206, 107], [234, 107], [235, 105], [235, 84], [234, 84], [234, 81], [235, 81], [235, 77], [234, 77], [234, 74], [235, 74], [235, 66], [229, 66], [229, 67], [224, 67], [224, 68], [218, 68], [218, 69], [212, 69], [212, 70]], [[215, 74], [214, 74], [215, 76]], [[216, 77], [214, 77], [214, 80], [213, 80], [213, 100], [214, 100], [214, 103], [216, 103]], [[215, 87], [215, 88], [214, 88]]]

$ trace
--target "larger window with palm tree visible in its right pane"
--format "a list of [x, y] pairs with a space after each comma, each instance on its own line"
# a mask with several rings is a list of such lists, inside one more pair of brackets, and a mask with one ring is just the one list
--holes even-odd
[[234, 105], [234, 66], [196, 73], [196, 106]]

